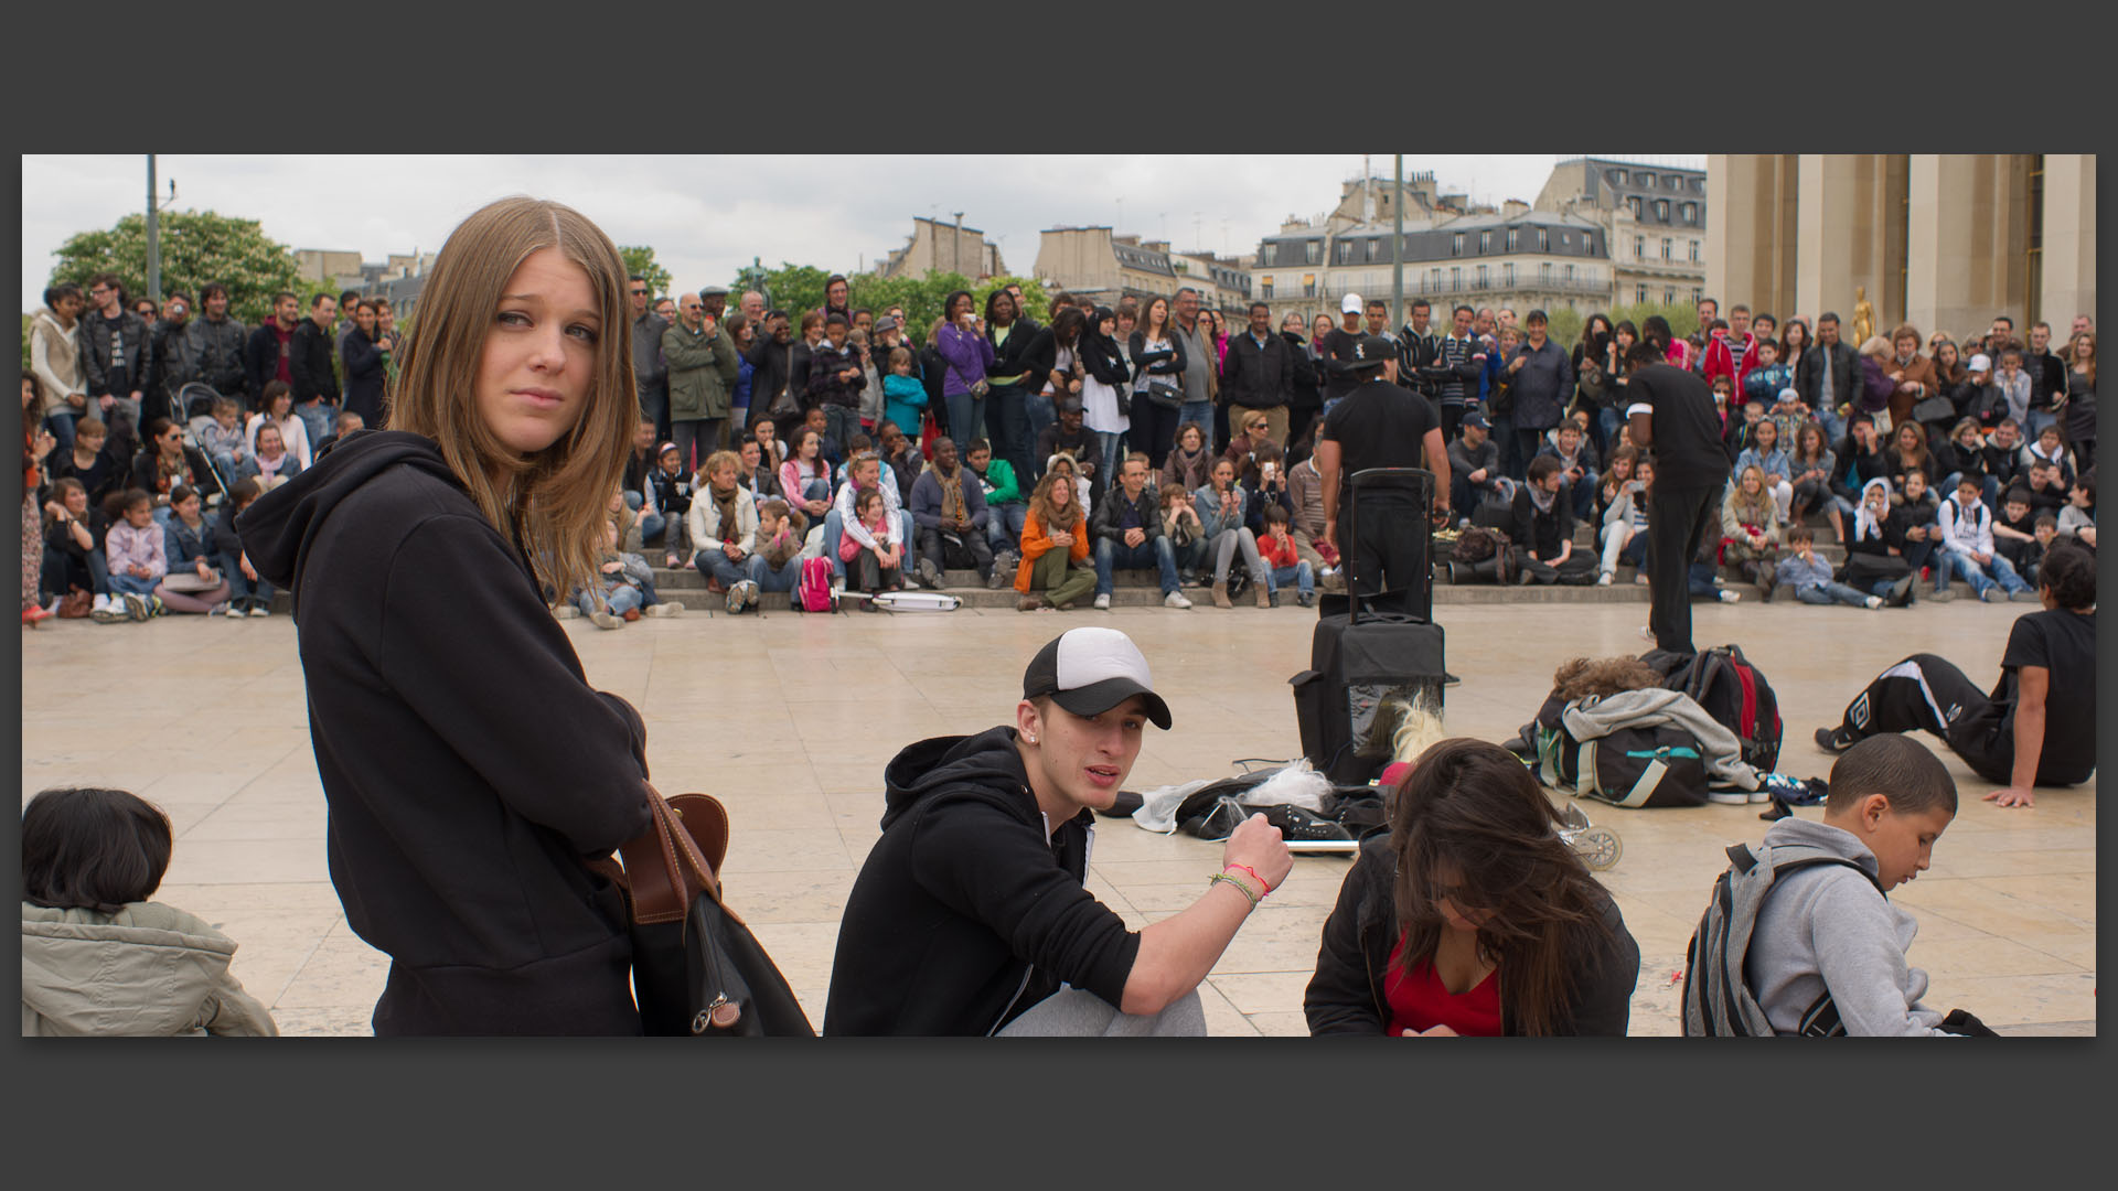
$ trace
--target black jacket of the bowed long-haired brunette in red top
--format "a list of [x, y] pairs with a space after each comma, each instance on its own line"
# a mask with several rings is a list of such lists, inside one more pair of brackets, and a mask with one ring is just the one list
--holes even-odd
[[[1324, 922], [1317, 971], [1303, 994], [1311, 1034], [1381, 1034], [1389, 1028], [1383, 977], [1398, 945], [1396, 854], [1389, 835], [1372, 835], [1360, 846], [1353, 871], [1339, 886], [1339, 905]], [[1557, 1034], [1622, 1036], [1633, 1015], [1633, 985], [1639, 981], [1639, 945], [1625, 928], [1618, 903], [1603, 905], [1610, 926], [1605, 945], [1582, 956], [1574, 968], [1574, 1005], [1557, 1024]], [[1502, 1032], [1514, 1034], [1508, 985], [1502, 973]]]

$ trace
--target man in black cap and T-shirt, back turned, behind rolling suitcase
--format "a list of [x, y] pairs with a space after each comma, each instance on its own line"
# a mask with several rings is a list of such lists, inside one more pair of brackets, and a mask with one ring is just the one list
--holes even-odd
[[[1353, 295], [1347, 295], [1353, 301]], [[1368, 468], [1417, 468], [1434, 473], [1434, 509], [1438, 523], [1449, 521], [1449, 451], [1442, 447], [1440, 415], [1434, 403], [1396, 384], [1398, 345], [1381, 335], [1353, 341], [1349, 360], [1360, 384], [1330, 407], [1317, 430], [1317, 475], [1324, 481], [1324, 540], [1347, 557], [1347, 591], [1379, 596], [1425, 585], [1425, 559], [1400, 557], [1389, 549], [1392, 526], [1400, 515], [1430, 515], [1425, 509], [1400, 506], [1404, 496], [1385, 490], [1370, 498], [1362, 517], [1360, 540], [1349, 532], [1349, 498], [1353, 473]]]

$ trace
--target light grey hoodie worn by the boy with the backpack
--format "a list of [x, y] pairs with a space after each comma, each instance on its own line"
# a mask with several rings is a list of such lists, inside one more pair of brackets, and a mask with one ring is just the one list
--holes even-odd
[[[1764, 841], [1809, 843], [1877, 873], [1866, 843], [1821, 822], [1783, 818]], [[1942, 1013], [1919, 1002], [1927, 973], [1904, 962], [1917, 932], [1919, 920], [1857, 873], [1838, 865], [1788, 873], [1758, 909], [1743, 983], [1779, 1034], [1798, 1032], [1802, 1013], [1830, 988], [1853, 1038], [1951, 1036], [1936, 1028]]]

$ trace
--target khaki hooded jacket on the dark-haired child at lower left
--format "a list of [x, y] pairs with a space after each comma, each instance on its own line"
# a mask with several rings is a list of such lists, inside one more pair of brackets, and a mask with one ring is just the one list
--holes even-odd
[[159, 901], [116, 913], [21, 903], [21, 1036], [254, 1034], [271, 1013], [229, 975], [235, 941]]

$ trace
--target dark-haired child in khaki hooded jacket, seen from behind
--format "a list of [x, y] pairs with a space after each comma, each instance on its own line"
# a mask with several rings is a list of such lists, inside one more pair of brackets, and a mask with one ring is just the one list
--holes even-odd
[[21, 810], [23, 1036], [275, 1036], [229, 973], [235, 941], [148, 901], [169, 816], [125, 790], [44, 790]]

